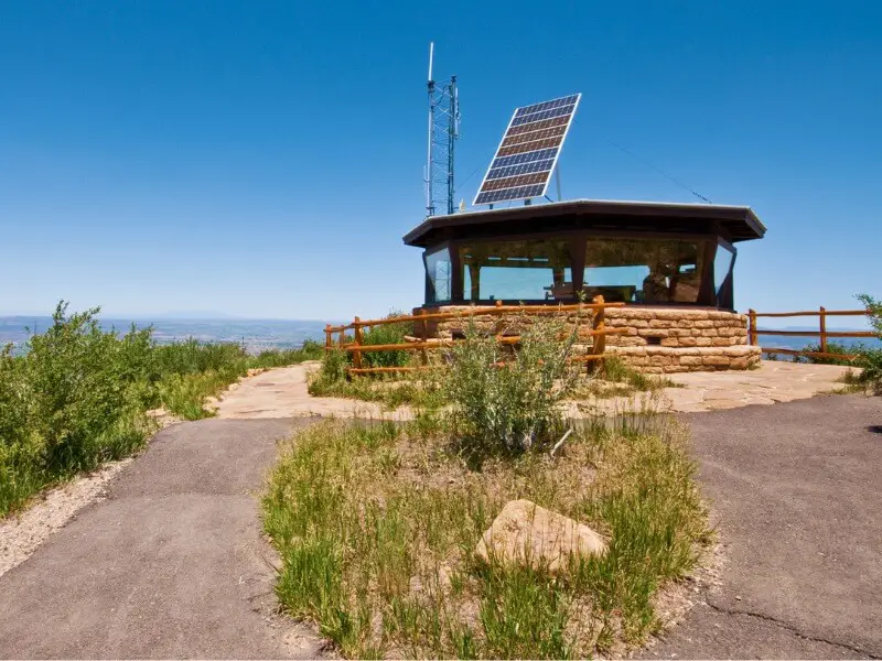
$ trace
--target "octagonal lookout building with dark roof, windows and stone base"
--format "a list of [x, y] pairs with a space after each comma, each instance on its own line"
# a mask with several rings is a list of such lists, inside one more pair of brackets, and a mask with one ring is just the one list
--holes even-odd
[[630, 329], [607, 351], [668, 372], [760, 360], [735, 312], [734, 266], [735, 246], [764, 234], [746, 206], [576, 199], [430, 216], [404, 241], [423, 249], [426, 308], [600, 294], [626, 304], [607, 310], [609, 325]]

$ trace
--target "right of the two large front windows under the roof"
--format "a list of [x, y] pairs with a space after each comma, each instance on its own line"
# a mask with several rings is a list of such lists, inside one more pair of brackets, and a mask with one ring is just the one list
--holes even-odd
[[589, 239], [583, 291], [625, 303], [698, 303], [701, 241]]

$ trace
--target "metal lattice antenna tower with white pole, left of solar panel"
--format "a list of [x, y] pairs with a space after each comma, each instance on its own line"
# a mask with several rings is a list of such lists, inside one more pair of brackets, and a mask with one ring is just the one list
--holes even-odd
[[423, 183], [426, 215], [452, 214], [455, 210], [454, 155], [460, 137], [460, 96], [456, 76], [445, 83], [432, 78], [434, 42], [429, 44], [429, 141]]

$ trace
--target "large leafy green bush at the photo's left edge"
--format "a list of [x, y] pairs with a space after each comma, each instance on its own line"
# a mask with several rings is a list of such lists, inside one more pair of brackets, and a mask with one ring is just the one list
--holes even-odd
[[0, 516], [34, 491], [139, 447], [153, 398], [149, 330], [105, 333], [96, 310], [67, 315], [0, 357]]

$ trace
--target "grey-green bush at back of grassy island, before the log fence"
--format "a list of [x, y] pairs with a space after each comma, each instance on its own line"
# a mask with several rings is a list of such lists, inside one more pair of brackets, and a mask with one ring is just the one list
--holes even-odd
[[[464, 447], [478, 454], [520, 453], [557, 441], [561, 403], [578, 367], [569, 361], [578, 328], [559, 319], [524, 319], [520, 346], [504, 347], [470, 319], [454, 345], [444, 390]], [[529, 323], [531, 322], [531, 323]]]

